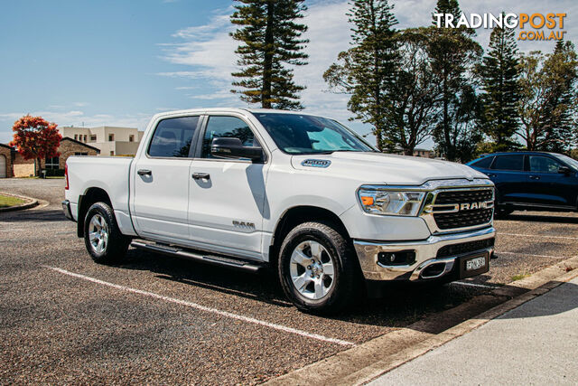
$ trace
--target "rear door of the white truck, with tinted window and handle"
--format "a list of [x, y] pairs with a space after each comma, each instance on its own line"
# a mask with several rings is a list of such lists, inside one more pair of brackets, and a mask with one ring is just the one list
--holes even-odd
[[135, 160], [133, 219], [139, 235], [154, 240], [189, 239], [189, 170], [199, 116], [158, 122]]

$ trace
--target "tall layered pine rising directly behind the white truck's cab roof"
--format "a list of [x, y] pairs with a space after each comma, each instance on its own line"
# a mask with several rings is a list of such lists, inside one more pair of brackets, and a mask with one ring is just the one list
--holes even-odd
[[231, 23], [238, 29], [231, 36], [241, 42], [240, 71], [233, 72], [231, 92], [262, 108], [301, 109], [299, 91], [294, 83], [294, 66], [303, 66], [309, 42], [302, 38], [307, 26], [297, 21], [307, 7], [304, 0], [236, 0]]

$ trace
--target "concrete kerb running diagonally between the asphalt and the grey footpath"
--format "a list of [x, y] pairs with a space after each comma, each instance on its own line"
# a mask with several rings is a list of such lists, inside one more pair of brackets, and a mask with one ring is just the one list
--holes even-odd
[[[568, 271], [568, 269], [571, 270]], [[381, 335], [294, 372], [288, 372], [267, 381], [266, 384], [339, 383], [358, 385], [367, 383], [576, 277], [578, 277], [578, 257], [565, 259], [554, 266], [536, 272], [529, 278], [496, 288], [491, 291], [491, 296], [474, 297], [461, 306], [433, 315], [433, 317], [416, 322], [406, 328]], [[476, 302], [483, 304], [484, 300], [489, 301], [483, 297], [494, 298], [498, 305], [474, 314], [471, 318], [466, 316], [461, 319], [463, 322], [460, 324], [453, 325], [440, 333], [428, 332], [431, 329], [428, 329], [427, 325], [443, 323], [446, 318], [455, 318], [462, 314], [461, 311], [467, 313], [469, 310], [471, 311], [471, 308], [475, 309], [475, 306], [472, 307], [472, 305]], [[505, 300], [509, 297], [512, 298]]]

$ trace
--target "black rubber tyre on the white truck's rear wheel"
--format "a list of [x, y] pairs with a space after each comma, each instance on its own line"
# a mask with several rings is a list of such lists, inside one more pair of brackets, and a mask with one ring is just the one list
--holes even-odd
[[[102, 249], [95, 247], [90, 240], [90, 231], [98, 232], [98, 228], [91, 225], [93, 219], [105, 224], [101, 228], [107, 233], [107, 238], [103, 241]], [[104, 239], [100, 233], [98, 236]], [[130, 239], [118, 230], [117, 219], [112, 208], [105, 202], [96, 202], [90, 206], [84, 219], [84, 243], [90, 257], [98, 264], [118, 264], [125, 258]]]

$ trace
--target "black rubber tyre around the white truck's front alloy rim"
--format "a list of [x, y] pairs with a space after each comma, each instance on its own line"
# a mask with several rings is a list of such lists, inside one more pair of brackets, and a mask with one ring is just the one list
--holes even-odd
[[[346, 237], [337, 229], [338, 227], [331, 222], [304, 222], [290, 231], [281, 245], [278, 264], [281, 287], [283, 287], [286, 297], [302, 311], [323, 315], [335, 314], [350, 306], [355, 297], [358, 296], [361, 286], [358, 285], [359, 267], [356, 263], [356, 255]], [[322, 245], [324, 249], [323, 259], [330, 258], [334, 268], [331, 287], [329, 287], [327, 294], [319, 299], [303, 296], [295, 287], [291, 275], [291, 257], [294, 250], [303, 243], [311, 241]], [[303, 249], [303, 253], [307, 255], [306, 249]], [[307, 276], [309, 275], [308, 272], [312, 271], [303, 270], [303, 272], [303, 275]], [[321, 281], [326, 283], [323, 281], [327, 279], [326, 275], [322, 273], [321, 277]], [[320, 276], [315, 278], [319, 280]]]

